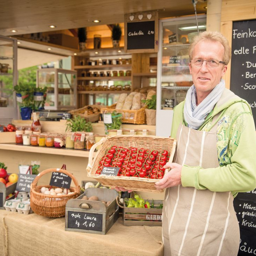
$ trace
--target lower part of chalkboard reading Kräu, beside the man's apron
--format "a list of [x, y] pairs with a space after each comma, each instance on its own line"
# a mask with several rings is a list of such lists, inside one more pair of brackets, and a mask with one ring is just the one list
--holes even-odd
[[238, 256], [256, 255], [256, 190], [239, 193], [234, 208], [240, 226]]

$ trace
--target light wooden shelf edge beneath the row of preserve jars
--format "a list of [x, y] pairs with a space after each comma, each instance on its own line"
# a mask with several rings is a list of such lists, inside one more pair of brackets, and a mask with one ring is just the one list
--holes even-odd
[[[62, 156], [76, 156], [76, 157], [89, 157], [88, 150], [75, 150], [66, 148], [54, 148], [54, 147], [36, 147], [36, 146], [23, 146], [16, 144], [0, 144], [0, 149], [22, 151], [30, 153], [62, 155]], [[94, 153], [95, 156], [96, 152]]]

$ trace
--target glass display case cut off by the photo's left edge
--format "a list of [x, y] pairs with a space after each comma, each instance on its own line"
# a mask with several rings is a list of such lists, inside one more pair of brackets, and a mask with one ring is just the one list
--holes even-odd
[[13, 87], [17, 84], [17, 39], [0, 36], [0, 124], [17, 118]]

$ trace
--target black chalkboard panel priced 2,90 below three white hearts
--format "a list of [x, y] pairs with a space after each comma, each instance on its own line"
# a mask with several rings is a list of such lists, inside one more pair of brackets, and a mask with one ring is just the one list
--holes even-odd
[[155, 49], [155, 21], [127, 23], [127, 50]]

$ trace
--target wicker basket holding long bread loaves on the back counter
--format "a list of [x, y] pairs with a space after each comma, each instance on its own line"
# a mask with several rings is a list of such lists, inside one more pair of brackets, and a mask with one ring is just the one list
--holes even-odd
[[115, 103], [107, 108], [101, 108], [100, 113], [104, 114], [106, 111], [112, 113], [115, 110], [122, 114], [122, 123], [146, 124], [145, 107], [138, 110], [116, 109], [116, 103]]

